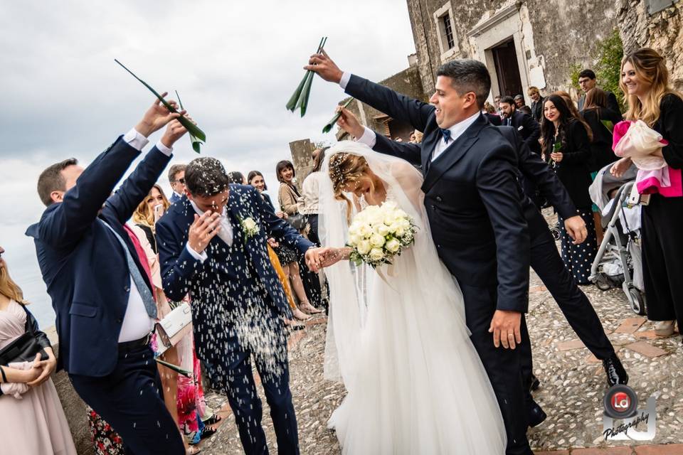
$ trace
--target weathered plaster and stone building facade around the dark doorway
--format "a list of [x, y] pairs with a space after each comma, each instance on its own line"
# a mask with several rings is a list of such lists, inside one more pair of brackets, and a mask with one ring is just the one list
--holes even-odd
[[[444, 63], [433, 14], [448, 1], [407, 1], [420, 77], [425, 92], [429, 93], [434, 88], [436, 70]], [[473, 35], [477, 34], [477, 28], [482, 28], [482, 24], [495, 21], [495, 16], [500, 16], [502, 11], [516, 9], [511, 17], [514, 17], [519, 33], [518, 58], [519, 50], [522, 53], [519, 70], [520, 73], [526, 73], [526, 81], [522, 75], [523, 85], [536, 85], [545, 92], [567, 90], [571, 82], [570, 66], [574, 63], [591, 66], [591, 55], [596, 43], [608, 36], [618, 25], [620, 1], [622, 0], [451, 0], [457, 52], [445, 60], [482, 60], [487, 63], [492, 77], [495, 78], [492, 60], [487, 61], [486, 56], [482, 55], [484, 49], [477, 47], [477, 40], [479, 45], [485, 40]], [[492, 26], [491, 30], [495, 32], [496, 27], [500, 26]], [[497, 43], [487, 45], [489, 44]], [[496, 87], [497, 82], [494, 83], [494, 94]]]

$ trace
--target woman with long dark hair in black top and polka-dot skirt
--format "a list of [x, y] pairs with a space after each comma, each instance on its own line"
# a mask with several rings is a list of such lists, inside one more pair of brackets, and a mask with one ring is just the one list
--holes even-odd
[[578, 284], [590, 284], [591, 264], [597, 250], [593, 201], [588, 194], [591, 173], [591, 129], [581, 118], [575, 117], [560, 95], [550, 95], [543, 102], [544, 119], [541, 122], [543, 154], [553, 166], [567, 189], [571, 200], [588, 229], [586, 240], [574, 245], [564, 229], [564, 220], [558, 214], [561, 231], [562, 260]]

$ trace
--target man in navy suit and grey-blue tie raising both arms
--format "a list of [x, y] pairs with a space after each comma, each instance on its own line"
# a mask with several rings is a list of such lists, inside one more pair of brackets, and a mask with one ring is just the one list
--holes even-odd
[[[75, 159], [48, 167], [38, 178], [47, 208], [26, 231], [57, 314], [59, 366], [132, 454], [185, 453], [149, 348], [152, 285], [124, 228], [186, 132], [179, 114], [154, 102], [85, 170]], [[166, 124], [157, 146], [112, 195], [149, 134]]]

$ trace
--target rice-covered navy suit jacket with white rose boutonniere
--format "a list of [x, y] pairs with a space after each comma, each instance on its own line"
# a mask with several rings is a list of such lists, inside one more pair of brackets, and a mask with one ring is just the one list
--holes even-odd
[[[231, 185], [226, 205], [233, 228], [233, 243], [227, 245], [217, 235], [206, 247], [207, 259], [201, 262], [187, 250], [186, 244], [195, 211], [186, 196], [171, 205], [169, 212], [157, 223], [159, 262], [162, 264], [164, 292], [169, 299], [180, 301], [190, 294], [195, 329], [224, 329], [217, 314], [230, 316], [239, 311], [239, 304], [253, 292], [263, 289], [259, 298], [267, 297], [275, 312], [292, 318], [285, 291], [277, 278], [266, 249], [268, 237], [295, 248], [302, 255], [314, 245], [302, 237], [285, 220], [277, 218], [252, 186]], [[252, 218], [258, 233], [246, 235], [240, 220]], [[268, 299], [269, 298], [269, 299]], [[198, 348], [202, 346], [197, 338]]]

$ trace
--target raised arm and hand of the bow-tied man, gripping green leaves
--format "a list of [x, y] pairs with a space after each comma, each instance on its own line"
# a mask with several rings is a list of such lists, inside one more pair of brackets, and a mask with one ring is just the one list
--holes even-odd
[[324, 50], [312, 55], [305, 69], [317, 73], [328, 82], [341, 85], [344, 91], [356, 100], [361, 100], [394, 119], [408, 122], [419, 131], [425, 130], [430, 115], [434, 114], [435, 108], [432, 105], [413, 100], [363, 77], [344, 73]]

